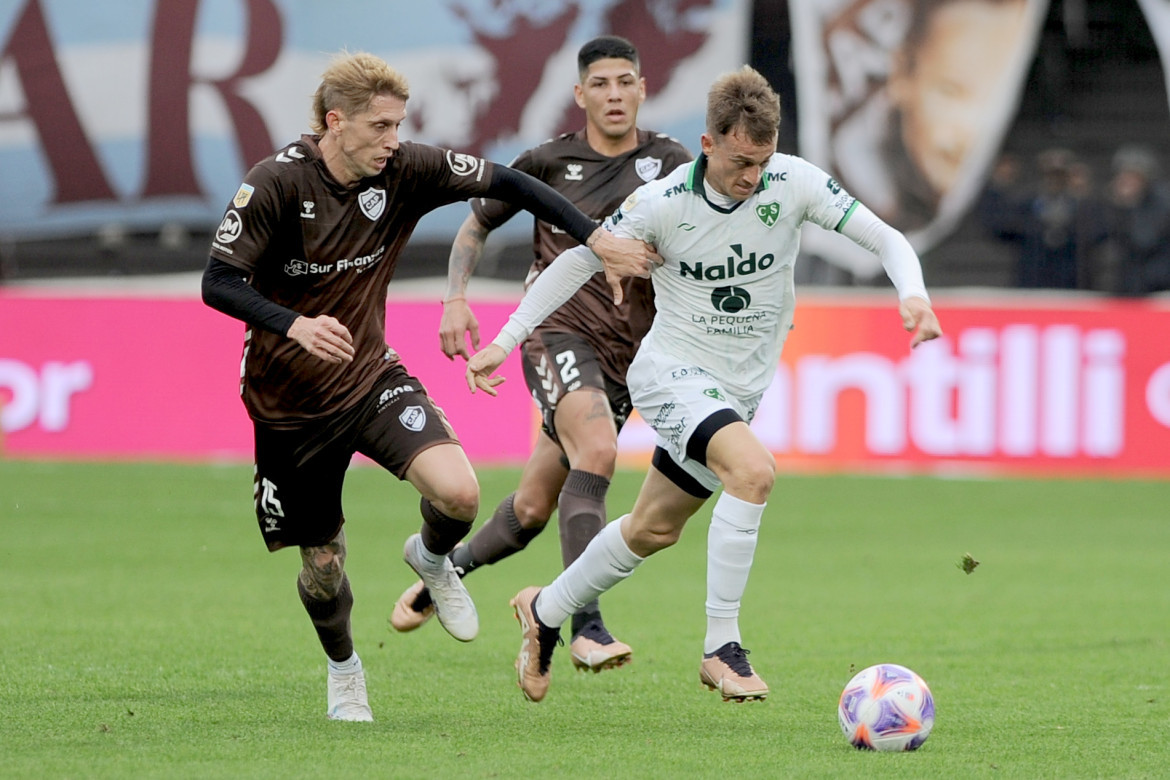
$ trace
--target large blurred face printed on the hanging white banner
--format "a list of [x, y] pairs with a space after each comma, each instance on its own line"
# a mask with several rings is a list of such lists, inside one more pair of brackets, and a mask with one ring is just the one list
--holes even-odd
[[[914, 61], [890, 75], [890, 99], [902, 117], [902, 145], [940, 195], [984, 133], [1011, 62], [1023, 2], [962, 0], [935, 12]], [[985, 63], [972, 68], [972, 62]]]

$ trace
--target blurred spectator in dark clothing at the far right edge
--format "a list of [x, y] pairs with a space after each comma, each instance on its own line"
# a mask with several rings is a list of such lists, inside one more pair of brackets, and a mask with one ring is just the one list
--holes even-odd
[[1110, 290], [1120, 295], [1170, 290], [1170, 189], [1148, 147], [1122, 146], [1114, 154], [1106, 219], [1114, 268]]

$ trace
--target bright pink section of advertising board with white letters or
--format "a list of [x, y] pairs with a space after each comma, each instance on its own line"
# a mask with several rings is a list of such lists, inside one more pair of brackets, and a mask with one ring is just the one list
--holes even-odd
[[[495, 332], [509, 306], [483, 306]], [[532, 402], [516, 358], [507, 392], [472, 396], [462, 359], [439, 351], [440, 306], [395, 302], [391, 345], [479, 461], [519, 461]], [[243, 325], [194, 298], [55, 297], [0, 291], [5, 457], [249, 460], [239, 396]]]

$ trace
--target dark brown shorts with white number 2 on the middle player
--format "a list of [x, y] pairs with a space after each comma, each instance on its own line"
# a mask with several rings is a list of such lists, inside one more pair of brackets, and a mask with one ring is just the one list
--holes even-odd
[[583, 387], [593, 387], [610, 400], [613, 421], [621, 430], [634, 408], [629, 389], [610, 379], [601, 371], [601, 363], [592, 345], [576, 333], [537, 330], [522, 348], [524, 381], [541, 410], [542, 430], [552, 441], [557, 439], [557, 402], [566, 394]]

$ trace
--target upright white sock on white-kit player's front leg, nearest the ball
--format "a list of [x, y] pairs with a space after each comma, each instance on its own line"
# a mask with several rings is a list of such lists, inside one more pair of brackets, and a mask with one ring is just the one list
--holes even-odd
[[715, 502], [707, 532], [707, 636], [703, 653], [739, 642], [739, 601], [756, 557], [759, 522], [768, 504], [750, 504], [727, 492]]

